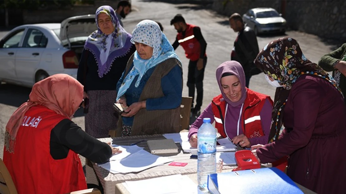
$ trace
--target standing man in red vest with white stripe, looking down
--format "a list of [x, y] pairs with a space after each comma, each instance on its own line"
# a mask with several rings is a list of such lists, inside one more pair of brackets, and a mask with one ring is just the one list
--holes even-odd
[[[181, 45], [185, 50], [186, 58], [190, 59], [188, 83], [189, 96], [192, 97], [191, 112], [193, 115], [200, 115], [203, 102], [203, 78], [204, 68], [207, 64], [206, 48], [207, 42], [204, 40], [201, 29], [198, 26], [188, 24], [181, 14], [177, 14], [171, 20], [171, 25], [178, 32], [176, 40], [172, 44], [174, 50]], [[195, 87], [197, 89], [196, 106], [193, 108]]]

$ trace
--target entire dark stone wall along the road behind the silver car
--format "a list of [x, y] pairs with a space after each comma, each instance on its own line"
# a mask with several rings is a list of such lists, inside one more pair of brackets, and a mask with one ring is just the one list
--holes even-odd
[[[215, 0], [213, 10], [230, 16], [256, 7], [282, 13], [292, 30], [346, 42], [346, 0]], [[343, 9], [344, 8], [344, 9]]]

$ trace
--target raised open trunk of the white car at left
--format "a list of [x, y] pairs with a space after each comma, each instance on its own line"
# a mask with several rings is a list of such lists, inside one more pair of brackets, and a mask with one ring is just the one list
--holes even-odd
[[64, 47], [73, 50], [80, 60], [85, 41], [95, 30], [97, 26], [94, 14], [74, 16], [61, 22], [59, 36]]

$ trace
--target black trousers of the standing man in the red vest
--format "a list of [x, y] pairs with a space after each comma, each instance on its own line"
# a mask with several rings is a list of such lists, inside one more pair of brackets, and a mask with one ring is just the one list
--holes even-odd
[[197, 61], [190, 60], [189, 62], [188, 83], [187, 83], [187, 86], [189, 88], [189, 96], [192, 97], [191, 108], [193, 108], [195, 88], [197, 90], [195, 111], [199, 111], [203, 103], [203, 79], [204, 79], [204, 69], [206, 69], [206, 65], [207, 65], [207, 57], [204, 57], [203, 59], [203, 69], [201, 70], [197, 70]]

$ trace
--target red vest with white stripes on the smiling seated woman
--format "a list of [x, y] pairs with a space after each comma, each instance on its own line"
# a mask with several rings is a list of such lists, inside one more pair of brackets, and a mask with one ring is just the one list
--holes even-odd
[[[243, 134], [247, 138], [261, 137], [264, 135], [260, 112], [264, 105], [265, 99], [268, 99], [272, 104], [270, 96], [254, 92], [248, 88], [247, 97], [244, 102], [242, 111], [242, 128]], [[212, 111], [215, 117], [215, 127], [222, 137], [227, 137], [226, 130], [224, 129], [226, 101], [222, 97], [222, 94], [213, 98], [211, 103]]]

